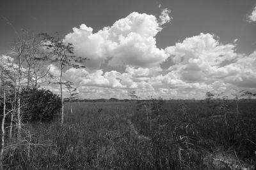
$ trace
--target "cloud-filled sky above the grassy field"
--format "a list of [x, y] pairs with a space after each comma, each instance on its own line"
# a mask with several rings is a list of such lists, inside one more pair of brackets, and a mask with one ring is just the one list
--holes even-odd
[[[86, 57], [70, 68], [81, 98], [202, 99], [256, 90], [255, 0], [1, 0], [0, 15], [19, 31], [59, 32]], [[0, 20], [0, 55], [15, 33]], [[52, 64], [52, 74], [59, 74]], [[47, 87], [54, 92], [58, 88]]]

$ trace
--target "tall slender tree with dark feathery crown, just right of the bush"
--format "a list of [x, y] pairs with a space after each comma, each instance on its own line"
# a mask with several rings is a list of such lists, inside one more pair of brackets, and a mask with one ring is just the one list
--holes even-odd
[[64, 104], [63, 104], [63, 71], [67, 67], [81, 68], [84, 67], [81, 62], [86, 60], [82, 57], [74, 55], [74, 46], [71, 43], [65, 43], [63, 39], [54, 38], [47, 33], [41, 34], [43, 37], [42, 45], [49, 50], [48, 59], [51, 62], [58, 64], [60, 68], [60, 76], [58, 83], [60, 84], [61, 97], [61, 124], [64, 122]]

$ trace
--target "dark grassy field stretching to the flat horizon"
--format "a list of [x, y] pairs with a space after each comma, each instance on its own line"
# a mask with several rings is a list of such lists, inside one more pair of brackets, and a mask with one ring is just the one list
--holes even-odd
[[[255, 101], [77, 102], [65, 124], [26, 127], [6, 169], [253, 169]], [[28, 142], [29, 141], [29, 142]]]

